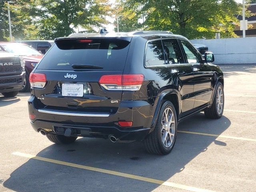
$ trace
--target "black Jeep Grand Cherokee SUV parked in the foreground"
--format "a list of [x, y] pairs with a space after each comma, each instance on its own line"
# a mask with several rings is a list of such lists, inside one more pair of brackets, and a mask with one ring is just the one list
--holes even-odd
[[223, 72], [183, 36], [73, 34], [55, 43], [30, 74], [28, 100], [32, 127], [52, 142], [143, 140], [148, 152], [168, 154], [180, 120], [222, 116]]

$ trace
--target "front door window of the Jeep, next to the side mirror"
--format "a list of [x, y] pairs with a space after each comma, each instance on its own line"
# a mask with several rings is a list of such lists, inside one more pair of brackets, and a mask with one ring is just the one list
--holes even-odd
[[194, 49], [194, 47], [187, 41], [180, 40], [184, 51], [186, 53], [186, 57], [188, 59], [188, 63], [198, 63], [201, 61], [200, 54]]

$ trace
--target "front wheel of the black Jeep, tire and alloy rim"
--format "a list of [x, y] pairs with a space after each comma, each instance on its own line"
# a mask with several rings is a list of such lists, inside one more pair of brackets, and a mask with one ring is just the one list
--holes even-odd
[[[219, 99], [218, 92], [220, 90], [222, 91], [222, 94], [220, 94], [222, 96], [220, 96], [220, 99]], [[220, 110], [220, 106], [218, 104], [221, 102], [222, 102], [222, 108]], [[204, 110], [204, 115], [206, 116], [206, 118], [209, 118], [209, 119], [219, 119], [222, 117], [223, 111], [224, 111], [224, 89], [223, 89], [222, 83], [218, 82], [216, 86], [216, 93], [214, 95], [212, 106]]]

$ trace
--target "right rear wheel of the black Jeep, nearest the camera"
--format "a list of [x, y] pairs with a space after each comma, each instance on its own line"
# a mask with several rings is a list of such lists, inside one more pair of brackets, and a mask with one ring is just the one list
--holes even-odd
[[[164, 114], [166, 110], [168, 109], [168, 114], [170, 112], [170, 115], [168, 118], [171, 119], [169, 121], [170, 125], [167, 125], [164, 127], [163, 124], [166, 124], [166, 121], [164, 121]], [[167, 132], [166, 129], [170, 130], [170, 132]], [[163, 142], [162, 138], [164, 138], [165, 133], [167, 134], [166, 142]], [[152, 154], [160, 154], [165, 155], [171, 152], [172, 148], [174, 147], [175, 141], [177, 136], [177, 116], [175, 108], [170, 101], [164, 102], [162, 104], [162, 107], [160, 109], [158, 119], [156, 122], [156, 127], [154, 128], [154, 131], [151, 132], [145, 139], [144, 139], [144, 146], [147, 150], [147, 152]], [[171, 140], [172, 138], [172, 140]], [[167, 140], [169, 142], [167, 142]]]

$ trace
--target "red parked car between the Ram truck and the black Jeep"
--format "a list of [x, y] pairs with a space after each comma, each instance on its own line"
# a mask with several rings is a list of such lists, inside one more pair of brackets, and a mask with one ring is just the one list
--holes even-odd
[[28, 81], [29, 74], [38, 62], [40, 62], [43, 55], [34, 48], [17, 42], [0, 42], [0, 49], [20, 56], [20, 58], [25, 61], [26, 76], [23, 88], [20, 92], [28, 92], [30, 90], [30, 84]]

